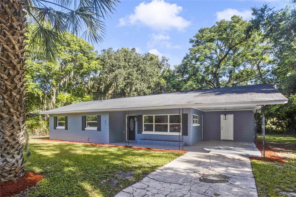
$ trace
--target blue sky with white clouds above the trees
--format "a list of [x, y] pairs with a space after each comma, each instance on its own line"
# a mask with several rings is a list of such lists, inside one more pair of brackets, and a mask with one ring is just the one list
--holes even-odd
[[251, 7], [269, 3], [276, 9], [289, 1], [125, 1], [106, 20], [107, 36], [94, 44], [101, 51], [112, 47], [135, 47], [137, 52], [164, 55], [173, 65], [180, 64], [190, 48], [189, 39], [200, 28], [215, 25], [233, 14], [251, 18]]

